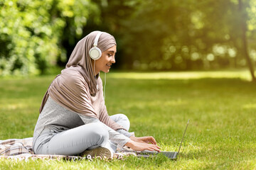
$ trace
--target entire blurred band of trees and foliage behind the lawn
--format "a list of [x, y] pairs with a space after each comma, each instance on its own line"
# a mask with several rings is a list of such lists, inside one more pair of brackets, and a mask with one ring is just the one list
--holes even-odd
[[117, 40], [117, 69], [250, 70], [254, 0], [0, 0], [0, 75], [63, 68], [92, 30]]

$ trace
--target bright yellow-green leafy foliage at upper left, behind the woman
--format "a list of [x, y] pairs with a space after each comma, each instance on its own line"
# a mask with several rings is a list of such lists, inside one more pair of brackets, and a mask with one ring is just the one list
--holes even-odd
[[82, 35], [93, 6], [90, 0], [1, 1], [0, 75], [43, 74], [58, 57], [65, 60], [61, 40]]

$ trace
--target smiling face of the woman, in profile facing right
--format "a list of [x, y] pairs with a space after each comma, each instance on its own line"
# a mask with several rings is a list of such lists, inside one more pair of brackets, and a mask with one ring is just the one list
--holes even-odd
[[105, 52], [102, 52], [102, 56], [99, 60], [92, 60], [92, 67], [94, 67], [95, 62], [95, 74], [98, 74], [100, 71], [108, 73], [110, 72], [110, 67], [115, 63], [114, 55], [117, 52], [117, 45], [110, 47]]

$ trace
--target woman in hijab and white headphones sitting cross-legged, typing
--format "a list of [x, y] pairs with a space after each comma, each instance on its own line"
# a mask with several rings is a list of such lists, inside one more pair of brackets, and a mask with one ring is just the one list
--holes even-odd
[[112, 158], [118, 147], [160, 152], [154, 137], [134, 137], [122, 114], [109, 116], [100, 71], [115, 63], [117, 44], [108, 33], [94, 31], [80, 40], [50, 84], [33, 135], [36, 154], [91, 154]]

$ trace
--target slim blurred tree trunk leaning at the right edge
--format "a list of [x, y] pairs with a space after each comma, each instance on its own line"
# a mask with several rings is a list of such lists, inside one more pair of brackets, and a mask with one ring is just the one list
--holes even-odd
[[250, 74], [252, 75], [252, 81], [256, 81], [253, 64], [252, 64], [252, 61], [250, 60], [250, 56], [249, 56], [248, 51], [247, 51], [247, 48], [248, 48], [247, 47], [247, 38], [246, 38], [247, 25], [246, 25], [245, 17], [243, 15], [243, 11], [242, 11], [242, 0], [238, 0], [238, 5], [239, 5], [239, 12], [240, 12], [240, 23], [241, 23], [241, 28], [242, 28], [242, 34], [241, 34], [242, 54], [245, 55], [247, 65], [250, 69]]

